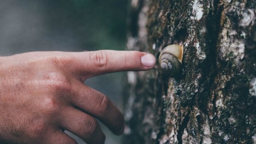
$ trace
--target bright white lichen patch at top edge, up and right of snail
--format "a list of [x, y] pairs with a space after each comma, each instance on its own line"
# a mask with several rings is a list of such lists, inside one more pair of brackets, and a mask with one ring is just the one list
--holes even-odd
[[203, 10], [203, 4], [201, 4], [198, 0], [195, 0], [192, 10], [193, 16], [191, 16], [191, 19], [200, 20], [204, 14]]

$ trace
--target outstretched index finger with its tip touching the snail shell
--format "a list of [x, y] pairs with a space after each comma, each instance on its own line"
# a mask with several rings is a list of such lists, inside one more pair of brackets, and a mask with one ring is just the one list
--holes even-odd
[[146, 71], [155, 66], [152, 54], [138, 51], [98, 50], [72, 54], [73, 71], [87, 77], [119, 71]]

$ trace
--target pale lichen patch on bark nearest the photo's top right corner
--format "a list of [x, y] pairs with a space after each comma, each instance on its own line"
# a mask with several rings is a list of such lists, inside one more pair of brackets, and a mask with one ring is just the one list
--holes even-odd
[[249, 24], [254, 24], [255, 14], [252, 9], [248, 9], [244, 13], [242, 13], [242, 19], [239, 22], [239, 25], [242, 27], [249, 26]]

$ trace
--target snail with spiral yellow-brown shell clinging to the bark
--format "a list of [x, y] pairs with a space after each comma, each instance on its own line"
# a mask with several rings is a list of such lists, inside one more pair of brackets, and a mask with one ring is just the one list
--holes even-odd
[[183, 45], [166, 46], [159, 55], [162, 72], [170, 77], [177, 77], [181, 73]]

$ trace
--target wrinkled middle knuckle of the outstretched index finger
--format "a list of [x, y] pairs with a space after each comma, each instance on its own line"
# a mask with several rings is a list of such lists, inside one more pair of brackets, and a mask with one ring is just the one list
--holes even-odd
[[108, 63], [108, 56], [106, 52], [99, 50], [91, 53], [90, 60], [96, 68], [105, 68]]

